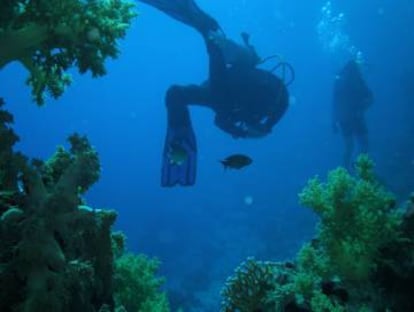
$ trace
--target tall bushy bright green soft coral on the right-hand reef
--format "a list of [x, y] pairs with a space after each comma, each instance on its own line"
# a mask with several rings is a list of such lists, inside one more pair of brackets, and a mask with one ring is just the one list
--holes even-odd
[[358, 158], [357, 174], [338, 168], [326, 183], [311, 179], [300, 193], [303, 205], [321, 218], [318, 243], [331, 273], [364, 281], [374, 272], [380, 249], [399, 236], [401, 215], [395, 200], [376, 181], [373, 162]]

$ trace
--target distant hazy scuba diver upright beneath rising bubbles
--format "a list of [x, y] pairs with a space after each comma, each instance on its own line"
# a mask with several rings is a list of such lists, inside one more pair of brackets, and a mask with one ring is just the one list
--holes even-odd
[[354, 153], [354, 141], [357, 141], [360, 152], [368, 152], [368, 130], [364, 113], [372, 104], [373, 95], [362, 77], [361, 70], [355, 60], [348, 61], [338, 73], [333, 91], [333, 131], [340, 128], [345, 143], [343, 165], [351, 169]]

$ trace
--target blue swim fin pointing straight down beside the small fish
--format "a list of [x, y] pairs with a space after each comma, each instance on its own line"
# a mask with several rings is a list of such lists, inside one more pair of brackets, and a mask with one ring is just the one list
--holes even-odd
[[168, 127], [162, 159], [161, 186], [194, 185], [197, 142], [191, 126], [176, 131]]

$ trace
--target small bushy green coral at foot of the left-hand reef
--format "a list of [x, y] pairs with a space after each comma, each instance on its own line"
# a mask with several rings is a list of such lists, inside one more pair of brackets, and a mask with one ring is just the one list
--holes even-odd
[[164, 279], [156, 277], [159, 261], [145, 255], [124, 254], [115, 262], [115, 303], [118, 311], [168, 312], [160, 291]]

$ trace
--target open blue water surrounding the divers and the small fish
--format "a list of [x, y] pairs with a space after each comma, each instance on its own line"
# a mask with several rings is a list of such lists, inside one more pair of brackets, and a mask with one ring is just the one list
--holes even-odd
[[[261, 56], [283, 55], [296, 80], [287, 114], [263, 139], [234, 140], [214, 126], [211, 111], [191, 108], [199, 146], [194, 187], [163, 189], [159, 183], [165, 91], [207, 77], [203, 41], [188, 26], [139, 3], [140, 16], [120, 42], [120, 57], [107, 62], [108, 75], [92, 79], [74, 71], [73, 85], [42, 108], [31, 101], [19, 64], [8, 65], [0, 80], [21, 138], [18, 149], [47, 158], [69, 134], [86, 134], [102, 163], [89, 205], [117, 210], [116, 229], [128, 236], [128, 249], [162, 261], [174, 307], [217, 311], [225, 278], [247, 256], [289, 259], [314, 234], [317, 219], [298, 204], [297, 194], [308, 178], [341, 163], [330, 100], [344, 60], [324, 51], [318, 38], [326, 1], [198, 3], [229, 37], [248, 31]], [[414, 91], [407, 95], [402, 87], [403, 73], [414, 70], [414, 4], [347, 0], [332, 6], [346, 16], [344, 31], [363, 52], [363, 73], [374, 92], [367, 113], [371, 157], [381, 180], [402, 200], [414, 189]], [[414, 73], [409, 83], [414, 90]], [[218, 160], [232, 153], [247, 154], [254, 163], [224, 172]]]

